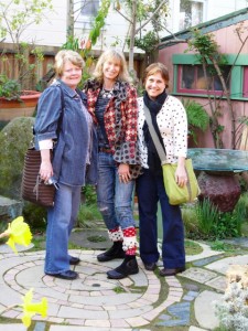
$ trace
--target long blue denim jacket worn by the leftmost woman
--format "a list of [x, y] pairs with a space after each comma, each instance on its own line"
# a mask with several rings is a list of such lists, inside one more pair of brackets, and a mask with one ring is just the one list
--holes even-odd
[[[86, 95], [80, 90], [77, 90], [77, 93], [83, 104], [86, 105]], [[62, 97], [64, 98], [64, 113], [60, 126]], [[55, 141], [52, 161], [55, 180], [72, 186], [84, 185], [86, 182], [96, 184], [96, 128], [93, 127], [93, 137], [88, 137], [87, 120], [82, 111], [80, 99], [75, 90], [62, 81], [56, 81], [42, 93], [37, 104], [34, 131], [36, 149], [39, 149], [39, 141], [41, 140], [52, 139]], [[89, 139], [93, 139], [90, 166], [86, 167]]]

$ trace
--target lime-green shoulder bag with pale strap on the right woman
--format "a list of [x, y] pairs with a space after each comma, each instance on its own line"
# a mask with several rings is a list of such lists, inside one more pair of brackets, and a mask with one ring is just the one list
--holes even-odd
[[175, 170], [177, 164], [164, 163], [166, 159], [166, 154], [161, 146], [159, 137], [153, 128], [151, 115], [148, 107], [144, 105], [144, 117], [148, 124], [148, 128], [157, 151], [160, 156], [162, 169], [163, 169], [163, 183], [164, 188], [169, 197], [169, 202], [172, 205], [177, 205], [181, 203], [193, 202], [197, 199], [198, 194], [201, 193], [200, 186], [197, 183], [197, 179], [194, 173], [194, 169], [192, 166], [192, 160], [185, 160], [185, 169], [187, 173], [187, 184], [183, 188], [180, 188], [175, 181]]

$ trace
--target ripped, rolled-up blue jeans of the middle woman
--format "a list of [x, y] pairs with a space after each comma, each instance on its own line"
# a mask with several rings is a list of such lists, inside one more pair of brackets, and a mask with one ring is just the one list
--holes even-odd
[[108, 229], [134, 226], [132, 191], [134, 181], [120, 183], [112, 154], [98, 156], [97, 204]]

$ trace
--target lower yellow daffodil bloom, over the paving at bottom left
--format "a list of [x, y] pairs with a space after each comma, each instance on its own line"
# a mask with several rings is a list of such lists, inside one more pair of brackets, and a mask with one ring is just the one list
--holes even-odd
[[22, 298], [23, 305], [23, 324], [29, 328], [31, 324], [31, 319], [35, 313], [40, 313], [43, 318], [47, 316], [47, 299], [42, 298], [41, 302], [32, 302], [33, 289], [31, 288], [29, 292]]

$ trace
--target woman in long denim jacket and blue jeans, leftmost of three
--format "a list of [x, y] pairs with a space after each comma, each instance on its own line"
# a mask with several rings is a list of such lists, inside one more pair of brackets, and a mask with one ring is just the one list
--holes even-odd
[[54, 206], [47, 210], [45, 274], [63, 279], [78, 276], [69, 269], [69, 265], [78, 264], [79, 258], [69, 256], [68, 237], [76, 221], [88, 167], [89, 182], [96, 184], [93, 120], [85, 106], [85, 94], [76, 89], [83, 66], [78, 53], [57, 53], [55, 71], [58, 79], [40, 97], [34, 127], [36, 148], [42, 157], [41, 179], [44, 182], [52, 180], [58, 186]]

